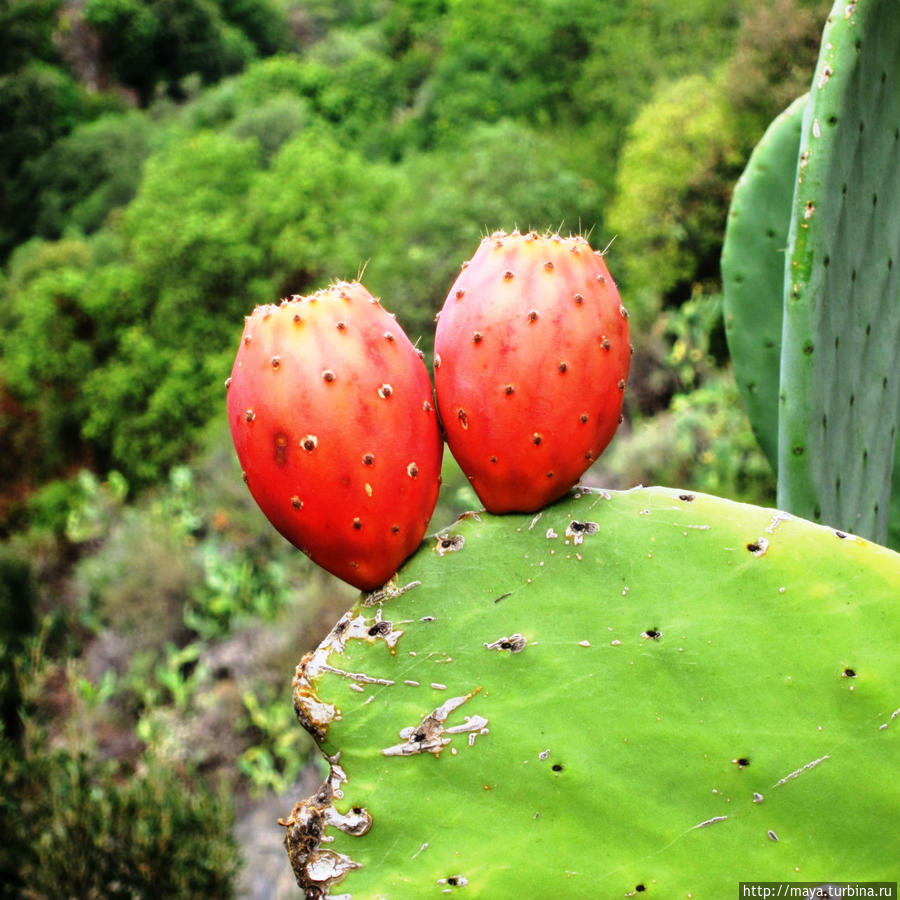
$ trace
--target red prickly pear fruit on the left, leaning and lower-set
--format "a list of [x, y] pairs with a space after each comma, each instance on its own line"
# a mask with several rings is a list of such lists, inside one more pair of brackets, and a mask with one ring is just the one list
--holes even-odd
[[346, 282], [257, 307], [227, 384], [269, 521], [344, 581], [383, 584], [425, 534], [443, 454], [428, 371], [393, 316]]

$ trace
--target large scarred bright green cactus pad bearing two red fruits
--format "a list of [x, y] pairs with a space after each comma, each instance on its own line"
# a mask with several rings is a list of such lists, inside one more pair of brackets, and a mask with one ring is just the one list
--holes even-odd
[[[308, 898], [896, 878], [900, 556], [670, 488], [470, 514], [294, 680]], [[839, 876], [837, 873], [840, 873]]]

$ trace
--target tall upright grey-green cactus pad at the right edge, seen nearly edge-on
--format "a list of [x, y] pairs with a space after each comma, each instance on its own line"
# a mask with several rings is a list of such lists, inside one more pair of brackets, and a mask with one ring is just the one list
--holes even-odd
[[785, 268], [778, 504], [884, 541], [900, 417], [900, 14], [836, 3]]

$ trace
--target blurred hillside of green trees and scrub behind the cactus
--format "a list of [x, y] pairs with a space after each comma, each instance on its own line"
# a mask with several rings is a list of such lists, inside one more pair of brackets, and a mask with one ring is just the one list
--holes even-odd
[[5, 895], [229, 896], [235, 797], [307, 762], [289, 678], [349, 594], [240, 483], [254, 304], [365, 271], [427, 350], [486, 229], [614, 240], [636, 353], [590, 477], [772, 502], [718, 257], [829, 6], [4, 0]]

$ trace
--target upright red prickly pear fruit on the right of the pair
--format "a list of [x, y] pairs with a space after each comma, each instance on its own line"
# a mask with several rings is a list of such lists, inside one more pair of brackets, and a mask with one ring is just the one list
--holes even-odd
[[450, 452], [492, 513], [561, 497], [618, 427], [628, 313], [582, 237], [495, 232], [450, 289], [435, 391]]

